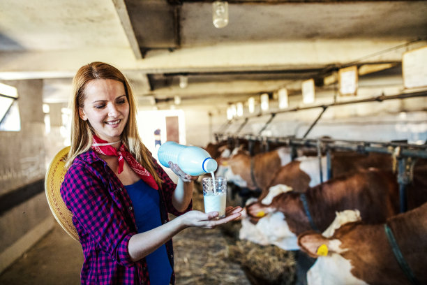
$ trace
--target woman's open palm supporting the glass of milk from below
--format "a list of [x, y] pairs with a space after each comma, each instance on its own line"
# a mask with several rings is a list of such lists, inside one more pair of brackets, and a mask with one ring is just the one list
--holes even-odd
[[183, 224], [186, 226], [199, 226], [203, 228], [215, 228], [221, 224], [226, 224], [229, 221], [237, 219], [241, 216], [241, 207], [226, 207], [225, 217], [217, 219], [218, 212], [204, 213], [200, 211], [190, 211], [183, 214], [181, 217]]

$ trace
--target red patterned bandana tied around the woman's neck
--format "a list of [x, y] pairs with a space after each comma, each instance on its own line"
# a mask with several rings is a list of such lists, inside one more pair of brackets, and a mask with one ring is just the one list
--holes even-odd
[[[135, 171], [135, 173], [141, 177], [141, 179], [152, 187], [153, 189], [158, 190], [158, 185], [156, 180], [154, 180], [153, 175], [151, 175], [147, 169], [145, 169], [133, 156], [128, 152], [128, 149], [121, 144], [119, 150], [115, 149], [110, 145], [109, 142], [101, 140], [97, 136], [93, 135], [93, 143], [91, 148], [97, 154], [104, 154], [107, 156], [118, 156], [119, 157], [119, 174], [123, 171], [124, 160], [129, 164], [130, 168]], [[123, 160], [124, 159], [124, 160]]]

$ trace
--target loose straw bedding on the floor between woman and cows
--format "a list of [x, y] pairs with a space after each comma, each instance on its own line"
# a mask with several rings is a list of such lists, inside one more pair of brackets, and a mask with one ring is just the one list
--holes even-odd
[[[203, 210], [200, 189], [193, 194], [193, 209]], [[239, 240], [240, 227], [235, 221], [212, 230], [187, 228], [176, 235], [177, 285], [294, 284], [292, 251]]]

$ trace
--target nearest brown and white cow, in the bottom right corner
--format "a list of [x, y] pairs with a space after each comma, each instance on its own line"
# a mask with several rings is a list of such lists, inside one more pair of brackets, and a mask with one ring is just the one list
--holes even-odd
[[[418, 284], [427, 284], [427, 203], [387, 219], [387, 225]], [[330, 238], [306, 232], [298, 243], [317, 258], [307, 274], [309, 285], [411, 284], [394, 256], [384, 224], [345, 224]]]

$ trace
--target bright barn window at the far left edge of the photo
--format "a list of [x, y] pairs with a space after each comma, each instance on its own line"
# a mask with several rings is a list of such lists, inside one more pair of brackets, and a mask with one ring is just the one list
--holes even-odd
[[0, 131], [20, 131], [17, 89], [0, 83]]

